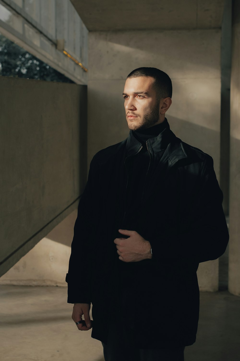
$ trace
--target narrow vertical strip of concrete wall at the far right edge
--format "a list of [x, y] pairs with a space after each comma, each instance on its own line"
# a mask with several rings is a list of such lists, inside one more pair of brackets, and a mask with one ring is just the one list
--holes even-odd
[[228, 290], [240, 296], [240, 2], [233, 1]]

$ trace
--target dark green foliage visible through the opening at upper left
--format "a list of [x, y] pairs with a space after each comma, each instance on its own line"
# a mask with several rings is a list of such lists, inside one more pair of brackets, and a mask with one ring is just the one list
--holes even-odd
[[59, 71], [0, 34], [0, 75], [74, 83]]

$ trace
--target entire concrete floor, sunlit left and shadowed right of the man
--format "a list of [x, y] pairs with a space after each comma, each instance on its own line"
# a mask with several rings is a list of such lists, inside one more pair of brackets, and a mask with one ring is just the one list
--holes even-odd
[[[1, 285], [1, 360], [104, 361], [91, 330], [77, 330], [72, 306], [67, 287]], [[197, 339], [184, 355], [185, 361], [240, 360], [240, 297], [200, 293]]]

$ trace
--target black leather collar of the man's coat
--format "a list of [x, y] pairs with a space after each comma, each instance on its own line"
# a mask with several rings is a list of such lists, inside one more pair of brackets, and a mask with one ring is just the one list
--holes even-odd
[[[167, 121], [167, 118], [165, 120]], [[147, 145], [152, 156], [159, 151], [166, 150], [167, 153], [164, 152], [164, 154], [166, 153], [166, 156], [169, 158], [168, 161], [172, 165], [178, 160], [187, 157], [182, 140], [177, 138], [171, 131], [168, 121], [166, 122], [166, 128], [158, 136], [147, 140]], [[136, 154], [140, 151], [141, 147], [142, 144], [135, 138], [132, 130], [130, 130], [126, 143], [127, 156]]]

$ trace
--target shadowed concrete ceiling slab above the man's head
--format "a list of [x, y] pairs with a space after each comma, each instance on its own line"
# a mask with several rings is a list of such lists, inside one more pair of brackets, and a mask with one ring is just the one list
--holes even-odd
[[213, 29], [224, 0], [71, 0], [89, 31]]

